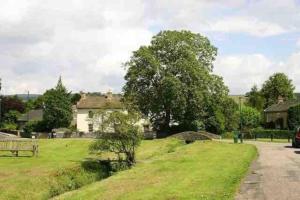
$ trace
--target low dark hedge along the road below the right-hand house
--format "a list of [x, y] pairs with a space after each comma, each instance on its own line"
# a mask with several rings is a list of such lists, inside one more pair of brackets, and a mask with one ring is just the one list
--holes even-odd
[[250, 131], [249, 139], [257, 138], [271, 138], [273, 135], [274, 139], [288, 139], [292, 138], [294, 131], [289, 130], [270, 130], [270, 129], [253, 129]]

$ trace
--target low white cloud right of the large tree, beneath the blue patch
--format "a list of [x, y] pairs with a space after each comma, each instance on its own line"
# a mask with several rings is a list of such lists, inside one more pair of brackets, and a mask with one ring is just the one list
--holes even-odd
[[261, 86], [274, 73], [283, 72], [300, 91], [300, 52], [285, 61], [274, 62], [262, 54], [221, 56], [214, 72], [223, 76], [231, 94], [245, 94], [256, 84]]

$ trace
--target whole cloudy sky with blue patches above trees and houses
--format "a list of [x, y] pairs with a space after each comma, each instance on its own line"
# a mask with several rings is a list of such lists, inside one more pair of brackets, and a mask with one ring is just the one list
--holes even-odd
[[300, 91], [299, 0], [0, 0], [2, 93], [121, 92], [123, 63], [161, 30], [218, 48], [214, 72], [244, 94], [284, 72]]

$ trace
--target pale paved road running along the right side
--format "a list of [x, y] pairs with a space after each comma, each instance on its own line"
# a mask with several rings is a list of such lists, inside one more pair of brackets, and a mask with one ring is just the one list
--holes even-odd
[[300, 200], [300, 149], [288, 143], [249, 142], [259, 157], [236, 200]]

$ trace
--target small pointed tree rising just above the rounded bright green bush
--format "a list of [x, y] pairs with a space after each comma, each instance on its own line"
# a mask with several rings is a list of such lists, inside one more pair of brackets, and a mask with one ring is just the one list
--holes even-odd
[[258, 111], [263, 111], [266, 100], [262, 92], [258, 90], [257, 86], [254, 85], [251, 91], [246, 93], [247, 101], [246, 105], [255, 108]]

